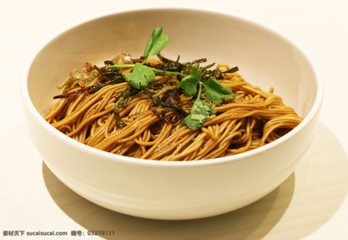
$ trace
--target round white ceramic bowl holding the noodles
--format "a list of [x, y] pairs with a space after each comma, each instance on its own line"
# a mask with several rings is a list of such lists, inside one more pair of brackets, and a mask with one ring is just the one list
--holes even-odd
[[[234, 156], [191, 162], [140, 160], [76, 142], [42, 116], [71, 69], [101, 65], [120, 52], [143, 54], [154, 28], [171, 42], [166, 57], [238, 66], [251, 84], [282, 96], [304, 121], [281, 139]], [[108, 209], [155, 219], [192, 219], [250, 204], [280, 185], [309, 147], [319, 121], [323, 83], [292, 41], [245, 18], [190, 8], [128, 9], [89, 18], [42, 44], [23, 72], [27, 128], [52, 172], [84, 198]]]

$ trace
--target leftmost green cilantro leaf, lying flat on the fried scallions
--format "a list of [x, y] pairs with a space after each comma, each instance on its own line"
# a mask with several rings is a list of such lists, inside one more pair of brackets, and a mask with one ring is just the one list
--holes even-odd
[[149, 82], [155, 80], [155, 73], [151, 68], [137, 62], [134, 69], [130, 73], [125, 73], [126, 81], [130, 81], [130, 85], [139, 89], [140, 85], [147, 86]]

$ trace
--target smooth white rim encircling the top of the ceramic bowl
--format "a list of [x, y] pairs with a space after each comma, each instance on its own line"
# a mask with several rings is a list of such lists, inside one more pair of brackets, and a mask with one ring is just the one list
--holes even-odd
[[[256, 25], [260, 28], [263, 28], [265, 30], [268, 30], [272, 32], [273, 34], [276, 34], [278, 37], [282, 38], [283, 40], [287, 41], [289, 44], [293, 45], [295, 48], [298, 49], [299, 52], [303, 54], [303, 56], [307, 59], [307, 61], [310, 63], [310, 66], [313, 69], [315, 78], [316, 78], [316, 96], [315, 96], [315, 101], [313, 104], [313, 107], [310, 109], [309, 113], [307, 114], [306, 117], [304, 117], [303, 121], [296, 126], [292, 131], [287, 133], [285, 136], [282, 138], [277, 139], [277, 141], [270, 142], [267, 145], [264, 145], [260, 148], [255, 148], [250, 151], [244, 152], [244, 153], [239, 153], [236, 155], [232, 156], [225, 156], [225, 157], [219, 157], [219, 158], [211, 158], [211, 159], [206, 159], [206, 160], [199, 160], [199, 161], [157, 161], [157, 160], [148, 160], [148, 159], [140, 159], [140, 158], [133, 158], [133, 157], [127, 157], [127, 156], [121, 156], [121, 155], [116, 155], [113, 153], [105, 152], [100, 149], [96, 149], [84, 144], [81, 144], [80, 142], [77, 142], [76, 140], [73, 140], [66, 136], [65, 134], [57, 131], [54, 127], [52, 127], [49, 123], [47, 123], [44, 118], [40, 115], [40, 113], [36, 110], [34, 107], [27, 88], [27, 76], [29, 74], [29, 70], [31, 68], [31, 65], [33, 63], [33, 60], [35, 57], [39, 54], [41, 49], [43, 49], [49, 42], [54, 40], [56, 37], [60, 36], [66, 31], [69, 31], [75, 27], [78, 27], [79, 25], [85, 24], [90, 21], [95, 21], [97, 19], [111, 16], [111, 15], [117, 15], [117, 14], [124, 14], [124, 13], [130, 13], [130, 12], [136, 12], [136, 11], [149, 11], [149, 10], [189, 10], [189, 11], [201, 11], [202, 13], [213, 13], [213, 14], [222, 14], [228, 17], [234, 17], [239, 20], [242, 20], [244, 22], [251, 23], [253, 25]], [[165, 5], [165, 6], [137, 6], [137, 7], [128, 7], [128, 8], [121, 8], [121, 9], [116, 9], [116, 10], [109, 10], [105, 11], [100, 14], [88, 16], [81, 18], [80, 20], [71, 23], [69, 25], [66, 25], [62, 29], [56, 31], [55, 33], [51, 34], [48, 38], [46, 38], [44, 41], [39, 44], [35, 50], [32, 52], [30, 57], [27, 59], [23, 71], [22, 71], [22, 76], [21, 76], [21, 82], [20, 82], [20, 90], [21, 90], [21, 96], [22, 96], [22, 102], [25, 108], [27, 108], [28, 112], [32, 115], [32, 117], [37, 121], [40, 125], [45, 127], [45, 129], [52, 134], [53, 136], [57, 137], [61, 141], [67, 141], [71, 146], [80, 149], [88, 154], [94, 155], [94, 156], [99, 156], [104, 159], [114, 161], [114, 162], [123, 162], [127, 164], [136, 164], [136, 165], [146, 165], [146, 166], [160, 166], [160, 167], [184, 167], [184, 168], [190, 168], [190, 167], [197, 167], [197, 166], [206, 166], [206, 165], [216, 165], [216, 164], [224, 164], [227, 162], [232, 162], [232, 161], [242, 161], [245, 158], [252, 157], [255, 155], [260, 154], [260, 152], [267, 152], [278, 145], [282, 144], [285, 141], [288, 141], [291, 139], [293, 136], [298, 134], [306, 125], [311, 122], [311, 119], [315, 117], [315, 115], [319, 112], [323, 98], [324, 98], [324, 83], [322, 79], [322, 75], [315, 64], [314, 60], [312, 57], [298, 44], [296, 43], [293, 39], [291, 39], [288, 36], [285, 36], [283, 33], [280, 33], [277, 30], [272, 29], [271, 27], [267, 26], [264, 23], [261, 23], [260, 21], [256, 21], [253, 19], [250, 19], [245, 16], [241, 16], [235, 13], [230, 13], [230, 12], [225, 12], [221, 10], [214, 10], [214, 9], [207, 9], [203, 7], [193, 7], [193, 6], [185, 6], [185, 7], [178, 7], [178, 6], [170, 6], [170, 5]]]

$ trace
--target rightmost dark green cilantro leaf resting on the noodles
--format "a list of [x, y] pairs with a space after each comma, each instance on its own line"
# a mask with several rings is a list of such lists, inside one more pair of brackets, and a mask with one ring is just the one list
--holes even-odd
[[221, 98], [233, 98], [232, 89], [228, 86], [224, 87], [214, 77], [209, 78], [205, 83], [202, 83], [205, 88], [205, 96], [207, 99], [220, 106]]

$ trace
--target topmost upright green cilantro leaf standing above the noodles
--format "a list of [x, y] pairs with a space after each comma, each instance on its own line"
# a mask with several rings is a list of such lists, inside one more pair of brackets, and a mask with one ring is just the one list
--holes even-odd
[[150, 40], [146, 45], [144, 57], [157, 55], [168, 44], [169, 37], [164, 36], [163, 28], [156, 28], [153, 30]]

